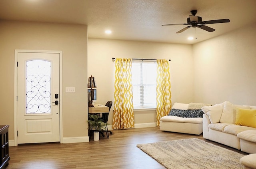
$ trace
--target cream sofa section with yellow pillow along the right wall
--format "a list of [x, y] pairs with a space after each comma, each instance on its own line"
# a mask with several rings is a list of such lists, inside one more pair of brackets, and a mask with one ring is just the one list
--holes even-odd
[[202, 107], [203, 137], [246, 153], [256, 153], [256, 106], [225, 101]]

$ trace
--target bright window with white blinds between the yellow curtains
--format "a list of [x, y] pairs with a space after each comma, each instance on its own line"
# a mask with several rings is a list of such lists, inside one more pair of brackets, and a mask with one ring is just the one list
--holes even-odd
[[133, 107], [156, 108], [156, 62], [132, 61]]

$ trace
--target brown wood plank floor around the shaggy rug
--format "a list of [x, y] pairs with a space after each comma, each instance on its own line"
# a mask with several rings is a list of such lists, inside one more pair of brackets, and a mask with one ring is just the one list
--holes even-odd
[[109, 139], [88, 143], [48, 143], [9, 147], [6, 169], [165, 169], [136, 147], [140, 143], [198, 138], [238, 153], [242, 151], [206, 140], [201, 135], [160, 131], [159, 127], [114, 130]]

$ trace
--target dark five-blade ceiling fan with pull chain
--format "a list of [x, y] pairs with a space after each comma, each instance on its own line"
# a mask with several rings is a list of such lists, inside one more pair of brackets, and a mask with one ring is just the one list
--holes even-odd
[[208, 26], [205, 26], [206, 24], [218, 24], [218, 23], [226, 23], [230, 22], [229, 19], [219, 19], [219, 20], [207, 20], [207, 21], [202, 21], [202, 17], [196, 16], [197, 10], [192, 10], [190, 11], [192, 15], [187, 18], [187, 23], [186, 24], [166, 24], [162, 26], [171, 26], [171, 25], [190, 25], [187, 26], [186, 28], [183, 28], [182, 30], [176, 32], [176, 34], [183, 32], [184, 30], [187, 30], [188, 28], [200, 28], [203, 30], [206, 30], [208, 32], [213, 32], [215, 29], [210, 28]]

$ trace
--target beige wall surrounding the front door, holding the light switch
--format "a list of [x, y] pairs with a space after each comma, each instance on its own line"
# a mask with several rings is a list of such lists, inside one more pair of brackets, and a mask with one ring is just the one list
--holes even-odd
[[[0, 124], [14, 139], [14, 50], [63, 51], [63, 137], [88, 136], [87, 26], [0, 21]], [[76, 93], [65, 93], [76, 87]], [[61, 94], [61, 93], [60, 93]]]

